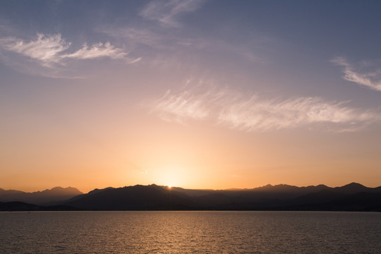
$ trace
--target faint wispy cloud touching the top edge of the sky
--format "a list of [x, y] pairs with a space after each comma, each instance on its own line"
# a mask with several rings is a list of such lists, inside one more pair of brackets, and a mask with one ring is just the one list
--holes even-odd
[[157, 20], [165, 26], [179, 27], [180, 23], [176, 20], [179, 14], [195, 11], [202, 2], [202, 0], [155, 0], [143, 8], [140, 16], [150, 20]]

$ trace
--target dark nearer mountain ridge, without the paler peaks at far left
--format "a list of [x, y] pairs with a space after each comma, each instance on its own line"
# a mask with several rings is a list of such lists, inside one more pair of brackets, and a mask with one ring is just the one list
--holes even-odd
[[[152, 184], [95, 189], [60, 204], [85, 210], [362, 211], [379, 209], [377, 203], [373, 204], [377, 201], [377, 194], [381, 195], [381, 188], [368, 188], [359, 183], [350, 183], [336, 188], [325, 185], [296, 187], [282, 184], [233, 190], [190, 190], [179, 187], [169, 189]], [[372, 196], [366, 199], [368, 201], [365, 205], [361, 205], [363, 200], [350, 198], [351, 195]], [[344, 202], [345, 200], [347, 201]]]

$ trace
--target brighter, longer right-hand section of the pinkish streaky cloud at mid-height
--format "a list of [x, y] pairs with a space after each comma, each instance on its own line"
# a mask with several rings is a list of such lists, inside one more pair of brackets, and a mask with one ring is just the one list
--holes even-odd
[[328, 102], [320, 97], [279, 100], [261, 99], [254, 95], [224, 107], [219, 113], [219, 121], [244, 131], [299, 127], [344, 131], [358, 128], [379, 117], [369, 111], [346, 107], [345, 103]]

